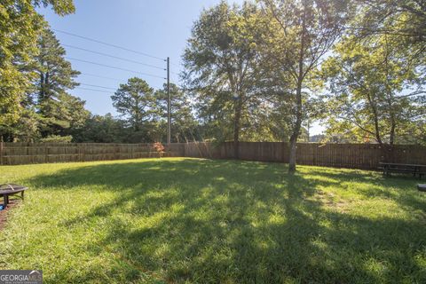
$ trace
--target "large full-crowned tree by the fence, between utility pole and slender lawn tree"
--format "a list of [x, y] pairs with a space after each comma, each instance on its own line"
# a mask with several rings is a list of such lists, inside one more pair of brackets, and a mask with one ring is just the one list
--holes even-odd
[[256, 12], [253, 4], [225, 2], [202, 12], [183, 56], [186, 88], [197, 101], [201, 122], [211, 126], [216, 137], [233, 138], [235, 158], [242, 125], [250, 121], [248, 108], [260, 105]]

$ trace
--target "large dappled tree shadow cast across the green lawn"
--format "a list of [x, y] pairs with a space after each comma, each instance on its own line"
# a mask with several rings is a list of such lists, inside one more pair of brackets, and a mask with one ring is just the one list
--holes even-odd
[[[105, 237], [86, 248], [94, 255], [114, 253], [116, 266], [106, 272], [111, 277], [137, 281], [153, 273], [165, 281], [202, 283], [426, 280], [424, 219], [352, 216], [316, 198], [319, 186], [373, 177], [310, 171], [330, 177], [316, 179], [284, 170], [262, 162], [149, 161], [60, 170], [28, 182], [69, 190], [97, 185], [116, 194], [114, 201], [62, 223], [108, 222]], [[424, 200], [415, 205], [424, 207]], [[90, 273], [83, 280], [93, 280]]]

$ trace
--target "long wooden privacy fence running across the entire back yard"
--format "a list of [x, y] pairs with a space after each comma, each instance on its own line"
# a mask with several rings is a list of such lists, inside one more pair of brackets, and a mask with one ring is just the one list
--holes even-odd
[[[165, 156], [234, 159], [233, 143], [176, 143]], [[158, 157], [152, 144], [0, 143], [4, 165], [43, 162], [86, 162]], [[239, 159], [288, 162], [288, 143], [240, 142]], [[298, 164], [352, 169], [376, 169], [379, 162], [426, 164], [426, 147], [413, 145], [298, 143]]]

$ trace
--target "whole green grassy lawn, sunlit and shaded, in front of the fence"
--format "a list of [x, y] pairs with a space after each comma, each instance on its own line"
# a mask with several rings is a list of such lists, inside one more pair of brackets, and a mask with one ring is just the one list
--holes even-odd
[[0, 269], [46, 283], [425, 283], [410, 177], [200, 159], [0, 167], [30, 186]]

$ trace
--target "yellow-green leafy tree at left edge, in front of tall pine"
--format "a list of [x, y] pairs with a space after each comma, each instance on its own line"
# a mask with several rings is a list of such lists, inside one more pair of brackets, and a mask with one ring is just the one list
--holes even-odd
[[37, 54], [37, 38], [43, 29], [40, 5], [51, 5], [59, 15], [74, 12], [71, 0], [4, 0], [0, 6], [0, 125], [11, 125], [20, 117], [33, 73], [27, 67]]

